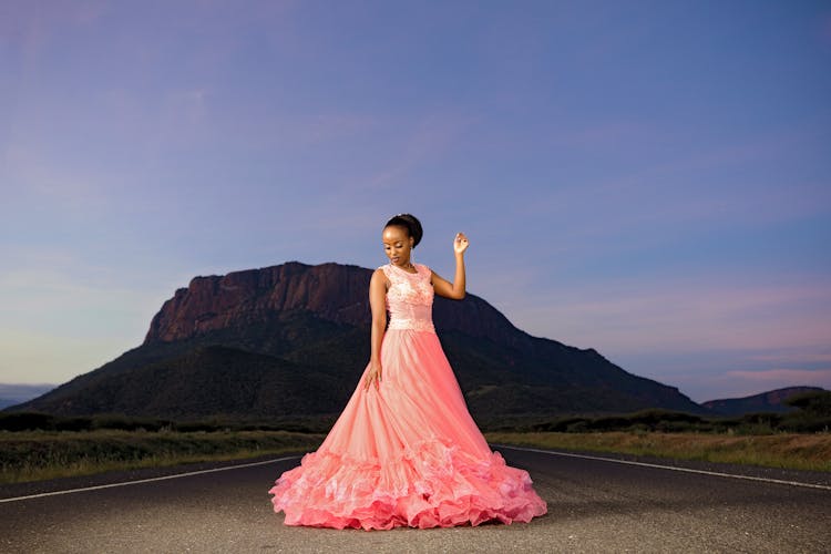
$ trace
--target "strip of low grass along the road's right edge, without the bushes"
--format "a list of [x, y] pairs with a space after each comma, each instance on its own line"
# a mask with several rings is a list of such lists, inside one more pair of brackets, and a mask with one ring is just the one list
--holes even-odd
[[701, 460], [767, 468], [831, 471], [831, 434], [736, 435], [613, 431], [597, 433], [493, 432], [491, 443]]

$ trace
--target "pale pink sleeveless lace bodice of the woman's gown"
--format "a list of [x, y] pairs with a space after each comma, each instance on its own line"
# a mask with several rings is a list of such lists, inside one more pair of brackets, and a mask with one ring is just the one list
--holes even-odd
[[433, 327], [433, 285], [429, 267], [416, 264], [417, 273], [400, 267], [381, 266], [390, 280], [387, 290], [387, 310], [390, 312], [390, 329], [435, 331]]

